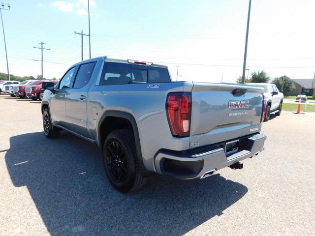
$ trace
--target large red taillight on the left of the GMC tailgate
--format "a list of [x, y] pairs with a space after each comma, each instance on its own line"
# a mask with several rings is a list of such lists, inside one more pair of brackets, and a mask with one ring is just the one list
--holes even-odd
[[189, 136], [191, 118], [191, 93], [169, 93], [166, 99], [166, 113], [172, 135], [175, 137]]

